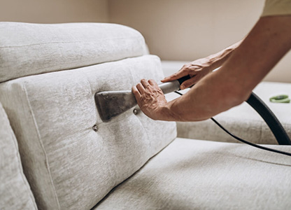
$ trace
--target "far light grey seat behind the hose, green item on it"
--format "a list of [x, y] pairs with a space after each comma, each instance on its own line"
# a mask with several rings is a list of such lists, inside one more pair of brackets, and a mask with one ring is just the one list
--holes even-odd
[[[291, 138], [291, 104], [269, 102], [271, 96], [288, 94], [291, 97], [290, 83], [262, 82], [253, 91], [275, 113]], [[171, 99], [176, 95], [171, 94]], [[246, 102], [214, 116], [227, 130], [236, 136], [256, 144], [278, 144], [268, 125]], [[178, 137], [205, 139], [212, 141], [237, 142], [220, 129], [212, 120], [177, 123]]]

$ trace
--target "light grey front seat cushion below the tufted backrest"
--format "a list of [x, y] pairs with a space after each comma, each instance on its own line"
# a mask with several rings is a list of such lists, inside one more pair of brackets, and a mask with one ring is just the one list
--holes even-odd
[[[270, 146], [291, 152], [290, 146]], [[291, 160], [244, 144], [177, 138], [101, 209], [290, 209]]]

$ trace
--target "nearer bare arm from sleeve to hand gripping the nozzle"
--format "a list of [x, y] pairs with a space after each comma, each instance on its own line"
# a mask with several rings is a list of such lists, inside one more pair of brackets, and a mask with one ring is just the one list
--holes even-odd
[[219, 71], [202, 78], [182, 97], [166, 102], [158, 87], [150, 83], [139, 83], [132, 92], [141, 110], [152, 119], [205, 120], [248, 99], [290, 48], [291, 15], [260, 18]]

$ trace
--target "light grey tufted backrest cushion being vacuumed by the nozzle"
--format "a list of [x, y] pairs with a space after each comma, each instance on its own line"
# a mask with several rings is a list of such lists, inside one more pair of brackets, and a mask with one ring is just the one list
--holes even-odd
[[133, 109], [103, 123], [94, 102], [96, 92], [162, 77], [159, 58], [144, 55], [0, 84], [39, 209], [92, 208], [175, 139], [176, 123]]

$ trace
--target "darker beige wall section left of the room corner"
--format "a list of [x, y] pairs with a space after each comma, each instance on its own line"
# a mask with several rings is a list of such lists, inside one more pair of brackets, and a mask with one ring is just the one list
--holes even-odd
[[108, 1], [0, 0], [0, 21], [108, 22]]

